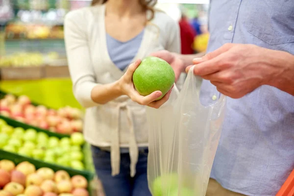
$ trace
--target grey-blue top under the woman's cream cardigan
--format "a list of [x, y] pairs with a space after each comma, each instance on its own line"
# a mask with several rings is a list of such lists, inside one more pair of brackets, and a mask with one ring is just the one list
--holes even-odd
[[123, 71], [134, 59], [141, 46], [143, 35], [144, 30], [136, 37], [126, 42], [121, 42], [111, 37], [108, 33], [106, 34], [109, 57], [120, 70]]

